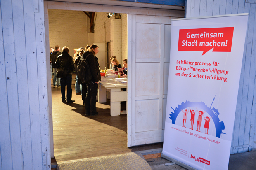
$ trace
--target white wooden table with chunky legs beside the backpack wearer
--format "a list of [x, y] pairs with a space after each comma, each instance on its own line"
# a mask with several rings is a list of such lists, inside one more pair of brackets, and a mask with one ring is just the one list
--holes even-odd
[[115, 78], [101, 77], [101, 81], [99, 83], [98, 101], [99, 103], [107, 102], [107, 91], [110, 92], [111, 116], [119, 116], [121, 109], [120, 102], [127, 101], [127, 91], [121, 91], [121, 88], [127, 88], [127, 79], [126, 82], [119, 82], [116, 81]]

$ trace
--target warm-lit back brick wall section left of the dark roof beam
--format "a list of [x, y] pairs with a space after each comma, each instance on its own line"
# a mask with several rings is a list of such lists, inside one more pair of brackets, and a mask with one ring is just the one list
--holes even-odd
[[[69, 47], [69, 54], [74, 55], [74, 48], [88, 44], [90, 19], [82, 11], [48, 9], [50, 47], [59, 45]], [[88, 28], [89, 25], [89, 28]]]

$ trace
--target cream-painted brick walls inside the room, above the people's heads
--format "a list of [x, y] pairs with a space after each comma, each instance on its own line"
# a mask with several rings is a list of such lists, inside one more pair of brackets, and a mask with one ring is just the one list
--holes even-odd
[[74, 48], [111, 41], [111, 56], [116, 56], [121, 65], [127, 58], [127, 14], [109, 19], [106, 12], [97, 12], [94, 33], [90, 33], [90, 19], [84, 12], [49, 9], [48, 14], [50, 47], [67, 46], [73, 56]]

